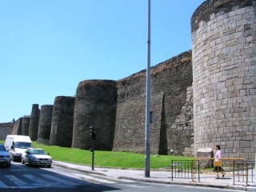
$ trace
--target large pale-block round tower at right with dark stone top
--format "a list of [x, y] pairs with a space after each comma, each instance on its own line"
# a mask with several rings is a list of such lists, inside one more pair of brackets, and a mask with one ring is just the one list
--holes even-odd
[[255, 0], [207, 0], [191, 18], [194, 147], [255, 159]]

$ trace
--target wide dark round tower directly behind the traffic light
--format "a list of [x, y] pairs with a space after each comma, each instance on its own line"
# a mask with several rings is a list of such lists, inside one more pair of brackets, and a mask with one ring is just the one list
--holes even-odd
[[90, 126], [97, 134], [96, 150], [112, 150], [117, 105], [115, 81], [88, 80], [80, 82], [74, 105], [72, 147], [91, 148]]

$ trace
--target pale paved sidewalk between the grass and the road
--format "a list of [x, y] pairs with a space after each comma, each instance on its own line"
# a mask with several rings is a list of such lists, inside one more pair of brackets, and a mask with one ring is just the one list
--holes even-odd
[[194, 182], [192, 182], [192, 179], [190, 178], [174, 178], [174, 180], [171, 181], [171, 172], [166, 170], [150, 170], [150, 178], [145, 178], [144, 170], [122, 170], [102, 167], [94, 167], [94, 170], [91, 170], [91, 166], [81, 166], [57, 161], [54, 161], [53, 165], [67, 167], [74, 170], [82, 170], [90, 174], [101, 174], [110, 178], [129, 179], [138, 182], [153, 182], [186, 186], [206, 186], [230, 190], [256, 191], [256, 183], [252, 183], [250, 186], [244, 186], [244, 183], [242, 182], [239, 185], [233, 185], [233, 177], [231, 176], [215, 179], [214, 175], [200, 174], [200, 182], [198, 182], [198, 178], [194, 179]]

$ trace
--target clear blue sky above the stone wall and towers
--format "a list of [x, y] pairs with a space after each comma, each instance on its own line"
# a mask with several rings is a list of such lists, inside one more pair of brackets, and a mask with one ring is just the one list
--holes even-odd
[[[151, 66], [191, 49], [204, 0], [151, 0]], [[147, 0], [1, 0], [0, 122], [146, 69]]]

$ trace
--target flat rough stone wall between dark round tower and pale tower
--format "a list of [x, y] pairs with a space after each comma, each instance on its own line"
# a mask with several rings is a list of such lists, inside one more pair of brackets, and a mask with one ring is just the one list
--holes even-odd
[[[150, 124], [151, 153], [168, 154], [175, 150], [182, 154], [191, 145], [193, 126], [186, 121], [182, 129], [172, 125], [186, 106], [187, 88], [192, 85], [191, 51], [152, 67], [150, 84], [150, 108], [156, 119]], [[114, 150], [145, 151], [145, 88], [145, 70], [118, 81]], [[191, 114], [183, 115], [187, 121], [192, 118]], [[186, 129], [187, 126], [190, 128]]]

